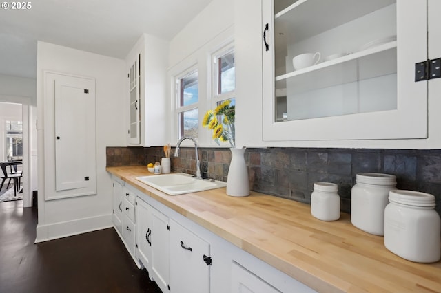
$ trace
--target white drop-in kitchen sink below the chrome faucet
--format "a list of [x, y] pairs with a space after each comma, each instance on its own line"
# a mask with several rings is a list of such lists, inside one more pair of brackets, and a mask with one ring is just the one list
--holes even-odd
[[136, 180], [167, 193], [167, 195], [181, 195], [227, 186], [227, 183], [222, 181], [200, 179], [185, 173], [141, 176], [136, 177]]

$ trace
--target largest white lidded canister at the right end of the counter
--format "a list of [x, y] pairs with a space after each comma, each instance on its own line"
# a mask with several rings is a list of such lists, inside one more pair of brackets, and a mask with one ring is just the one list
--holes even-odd
[[403, 259], [433, 263], [441, 257], [440, 215], [435, 197], [417, 191], [390, 191], [384, 210], [384, 246]]

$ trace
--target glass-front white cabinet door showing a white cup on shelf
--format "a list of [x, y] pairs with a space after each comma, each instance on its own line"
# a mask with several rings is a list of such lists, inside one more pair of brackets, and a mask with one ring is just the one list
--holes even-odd
[[263, 139], [427, 138], [427, 2], [263, 0]]

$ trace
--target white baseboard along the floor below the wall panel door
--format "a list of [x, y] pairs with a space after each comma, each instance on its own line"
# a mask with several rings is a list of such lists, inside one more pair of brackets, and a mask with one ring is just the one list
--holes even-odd
[[54, 224], [37, 225], [35, 243], [79, 235], [86, 232], [113, 227], [112, 214], [75, 219]]

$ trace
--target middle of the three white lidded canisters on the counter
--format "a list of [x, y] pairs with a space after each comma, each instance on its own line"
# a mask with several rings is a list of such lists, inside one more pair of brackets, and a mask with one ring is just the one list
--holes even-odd
[[396, 176], [382, 173], [357, 174], [351, 190], [351, 223], [373, 235], [384, 235], [384, 208], [389, 191], [396, 189]]

